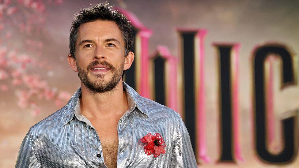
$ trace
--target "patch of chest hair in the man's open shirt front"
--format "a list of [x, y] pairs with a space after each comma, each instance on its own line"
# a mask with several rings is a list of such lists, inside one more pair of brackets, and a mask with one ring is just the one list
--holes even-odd
[[102, 149], [104, 155], [104, 162], [108, 168], [117, 167], [117, 151], [118, 151], [118, 141], [114, 142], [102, 142]]

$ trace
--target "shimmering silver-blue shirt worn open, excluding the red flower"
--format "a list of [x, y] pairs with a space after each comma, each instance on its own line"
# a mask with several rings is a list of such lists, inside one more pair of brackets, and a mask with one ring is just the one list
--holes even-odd
[[[180, 115], [166, 106], [141, 97], [123, 82], [136, 107], [128, 110], [118, 123], [117, 167], [167, 168], [197, 167], [190, 137]], [[17, 168], [107, 167], [96, 130], [74, 115], [81, 88], [63, 108], [32, 126], [17, 157]], [[160, 133], [165, 154], [146, 155], [140, 138]], [[99, 155], [100, 154], [100, 155]]]

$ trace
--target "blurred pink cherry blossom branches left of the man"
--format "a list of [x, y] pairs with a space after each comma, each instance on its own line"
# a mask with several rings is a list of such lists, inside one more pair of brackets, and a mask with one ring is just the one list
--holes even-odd
[[[51, 88], [47, 80], [42, 80], [39, 74], [28, 72], [30, 68], [37, 69], [45, 65], [45, 62], [36, 59], [38, 50], [43, 48], [43, 42], [33, 36], [34, 33], [41, 34], [44, 27], [44, 2], [54, 5], [63, 3], [62, 0], [0, 0], [0, 35], [1, 39], [5, 39], [4, 43], [0, 42], [0, 91], [14, 91], [18, 99], [17, 105], [22, 109], [31, 109], [32, 115], [40, 114], [37, 103], [39, 100], [53, 101], [56, 106], [62, 106], [71, 96], [66, 91]], [[24, 22], [20, 23], [19, 20]], [[21, 53], [9, 45], [13, 35], [24, 32], [27, 39], [22, 45], [34, 47], [21, 48], [28, 48], [31, 54]]]

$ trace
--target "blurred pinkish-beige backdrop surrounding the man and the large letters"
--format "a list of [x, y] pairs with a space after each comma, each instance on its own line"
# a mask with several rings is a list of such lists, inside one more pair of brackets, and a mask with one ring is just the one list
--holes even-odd
[[[69, 32], [73, 13], [104, 1], [1, 0], [0, 1], [0, 167], [14, 167], [17, 152], [29, 128], [66, 104], [80, 86], [68, 63]], [[262, 162], [254, 149], [251, 55], [258, 45], [281, 43], [299, 51], [299, 1], [279, 0], [123, 0], [111, 5], [133, 13], [153, 34], [149, 55], [158, 45], [179, 55], [177, 28], [203, 28], [208, 32], [205, 52], [205, 167], [298, 167]], [[239, 108], [242, 159], [218, 163], [220, 157], [218, 107], [218, 56], [213, 43], [240, 43]], [[297, 63], [297, 62], [296, 62]], [[274, 141], [280, 151], [280, 119], [298, 108], [299, 87], [281, 90], [280, 63], [273, 63]], [[296, 73], [297, 75], [297, 73]], [[180, 112], [180, 111], [178, 111]], [[298, 127], [298, 125], [296, 125]], [[295, 129], [298, 130], [298, 129]], [[297, 149], [295, 150], [297, 152]]]

